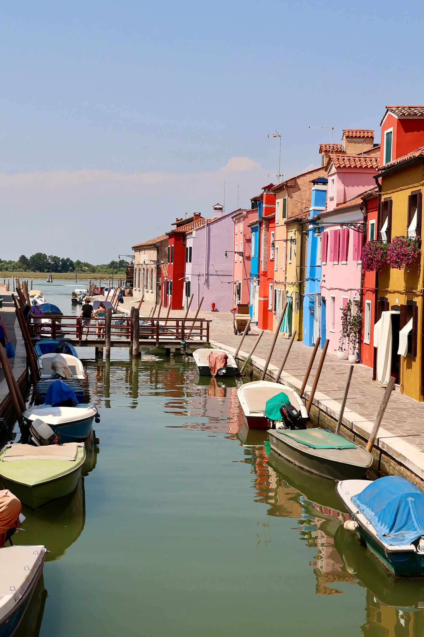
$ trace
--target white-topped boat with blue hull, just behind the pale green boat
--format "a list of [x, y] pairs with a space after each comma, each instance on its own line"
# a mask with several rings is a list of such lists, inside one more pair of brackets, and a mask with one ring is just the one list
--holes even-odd
[[34, 420], [43, 420], [60, 436], [61, 442], [83, 442], [90, 436], [93, 422], [99, 418], [99, 412], [92, 404], [81, 404], [78, 407], [52, 407], [42, 404], [27, 409], [22, 417], [28, 426]]

